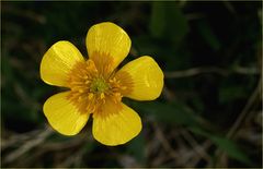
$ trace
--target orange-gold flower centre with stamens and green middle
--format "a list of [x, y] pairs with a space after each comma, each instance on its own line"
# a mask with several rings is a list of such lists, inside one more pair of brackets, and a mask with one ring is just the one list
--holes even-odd
[[99, 114], [110, 104], [122, 108], [122, 97], [133, 90], [133, 80], [128, 73], [112, 72], [112, 60], [98, 58], [102, 60], [89, 59], [76, 63], [68, 75], [68, 86], [71, 88], [68, 98], [82, 113]]

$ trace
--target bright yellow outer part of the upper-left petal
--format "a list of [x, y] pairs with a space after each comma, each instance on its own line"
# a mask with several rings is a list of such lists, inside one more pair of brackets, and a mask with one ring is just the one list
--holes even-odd
[[67, 75], [79, 61], [84, 58], [71, 43], [58, 41], [42, 59], [41, 77], [47, 84], [67, 87]]

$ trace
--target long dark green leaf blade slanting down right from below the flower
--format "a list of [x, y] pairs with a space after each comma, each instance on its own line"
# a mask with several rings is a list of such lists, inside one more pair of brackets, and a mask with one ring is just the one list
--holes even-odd
[[236, 143], [220, 136], [219, 133], [213, 133], [211, 124], [207, 124], [201, 117], [194, 114], [191, 109], [180, 102], [161, 104], [161, 102], [142, 102], [133, 105], [139, 112], [146, 112], [146, 116], [153, 117], [156, 120], [171, 124], [185, 125], [198, 135], [208, 137], [220, 149], [225, 150], [230, 157], [251, 165], [249, 157], [243, 153]]

